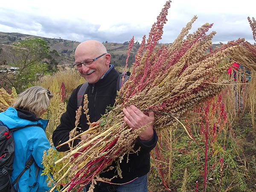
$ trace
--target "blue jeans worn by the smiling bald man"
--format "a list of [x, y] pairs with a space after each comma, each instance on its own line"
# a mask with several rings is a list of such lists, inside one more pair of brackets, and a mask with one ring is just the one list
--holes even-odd
[[[144, 175], [130, 183], [122, 185], [96, 186], [96, 192], [148, 192], [148, 175]], [[86, 190], [85, 190], [86, 192]]]

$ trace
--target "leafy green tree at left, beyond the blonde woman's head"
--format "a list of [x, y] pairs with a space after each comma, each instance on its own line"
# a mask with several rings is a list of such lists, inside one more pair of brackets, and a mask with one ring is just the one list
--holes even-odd
[[6, 74], [6, 83], [20, 92], [36, 81], [40, 74], [48, 71], [48, 65], [43, 61], [47, 58], [49, 47], [47, 41], [41, 38], [32, 38], [13, 45], [15, 55], [11, 65], [17, 71]]

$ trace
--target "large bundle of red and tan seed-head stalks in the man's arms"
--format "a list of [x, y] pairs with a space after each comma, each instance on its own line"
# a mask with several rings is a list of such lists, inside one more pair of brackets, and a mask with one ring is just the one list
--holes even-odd
[[[100, 178], [99, 174], [108, 171], [106, 168], [114, 160], [121, 161], [123, 154], [132, 151], [134, 141], [146, 127], [145, 125], [132, 131], [125, 124], [122, 109], [126, 106], [133, 104], [145, 113], [154, 111], [154, 128], [163, 129], [179, 121], [186, 111], [198, 103], [219, 93], [224, 84], [228, 83], [219, 78], [226, 72], [228, 65], [217, 67], [217, 64], [237, 51], [243, 54], [245, 49], [241, 44], [244, 40], [230, 42], [221, 49], [206, 53], [215, 32], [207, 35], [212, 24], [206, 23], [193, 34], [189, 34], [196, 16], [182, 29], [172, 44], [156, 48], [163, 35], [170, 2], [166, 2], [157, 22], [152, 25], [147, 42], [145, 36], [143, 37], [132, 65], [131, 76], [118, 93], [114, 108], [102, 117], [100, 125], [93, 126], [67, 141], [71, 144], [82, 134], [88, 136], [66, 156], [55, 162], [58, 164], [68, 160], [67, 165], [70, 167], [56, 180], [51, 191], [67, 177], [69, 182], [62, 189], [63, 192], [73, 189], [81, 191], [89, 182], [92, 183], [90, 190], [93, 190], [95, 180], [111, 182], [110, 179]], [[133, 44], [132, 38], [128, 55]], [[84, 100], [86, 102], [86, 99]], [[87, 103], [84, 103], [84, 107], [86, 113]], [[77, 119], [79, 118], [78, 112]], [[189, 135], [188, 131], [186, 132]], [[118, 166], [112, 169], [117, 169], [118, 176], [122, 177], [122, 170]]]

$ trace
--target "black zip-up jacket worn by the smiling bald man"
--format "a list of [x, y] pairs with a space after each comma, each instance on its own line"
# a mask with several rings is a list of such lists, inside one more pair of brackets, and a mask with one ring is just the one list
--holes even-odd
[[[95, 84], [89, 84], [86, 93], [88, 96], [88, 109], [90, 115], [90, 122], [96, 122], [101, 118], [101, 114], [105, 114], [105, 109], [107, 106], [113, 106], [116, 98], [116, 84], [119, 76], [114, 68], [104, 76], [103, 79], [100, 79]], [[61, 124], [53, 131], [52, 141], [55, 146], [60, 143], [63, 143], [69, 140], [69, 132], [75, 127], [76, 121], [76, 110], [77, 110], [77, 93], [79, 88], [77, 87], [70, 96], [70, 99], [67, 103], [67, 111], [61, 116]], [[87, 119], [82, 113], [80, 119], [80, 127], [82, 131], [88, 129]], [[76, 140], [76, 144], [79, 140]], [[136, 177], [141, 177], [149, 172], [150, 169], [150, 151], [155, 147], [157, 143], [157, 134], [154, 131], [154, 137], [150, 141], [141, 141], [139, 138], [136, 140], [134, 148], [141, 147], [138, 154], [133, 153], [129, 154], [129, 161], [126, 163], [126, 155], [124, 160], [120, 164], [122, 169], [122, 179], [116, 177], [111, 180], [111, 183], [126, 183], [133, 180]], [[69, 148], [67, 145], [58, 148], [58, 151], [67, 151]], [[115, 166], [114, 162], [112, 166]], [[101, 177], [112, 178], [114, 175], [117, 175], [116, 169], [110, 170], [101, 174]]]

